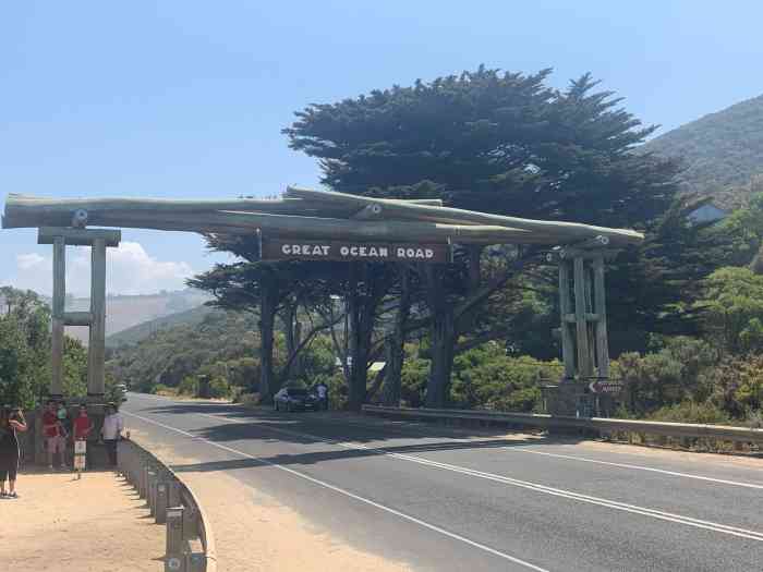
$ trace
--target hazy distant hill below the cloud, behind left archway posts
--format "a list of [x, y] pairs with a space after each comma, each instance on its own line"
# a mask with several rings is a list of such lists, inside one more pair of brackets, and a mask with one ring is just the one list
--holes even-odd
[[[199, 290], [185, 289], [175, 292], [159, 292], [149, 295], [108, 295], [106, 299], [106, 336], [132, 328], [140, 324], [162, 318], [179, 312], [198, 307], [210, 296]], [[66, 311], [87, 311], [90, 301], [86, 297], [66, 297]], [[87, 343], [87, 328], [69, 327], [66, 333]]]

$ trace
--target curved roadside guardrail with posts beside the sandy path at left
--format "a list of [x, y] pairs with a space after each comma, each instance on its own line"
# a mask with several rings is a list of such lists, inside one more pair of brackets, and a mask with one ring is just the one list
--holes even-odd
[[[167, 526], [166, 572], [217, 572], [217, 552], [209, 520], [183, 480], [134, 440], [119, 443], [119, 470], [157, 524]], [[194, 549], [198, 543], [202, 550]]]

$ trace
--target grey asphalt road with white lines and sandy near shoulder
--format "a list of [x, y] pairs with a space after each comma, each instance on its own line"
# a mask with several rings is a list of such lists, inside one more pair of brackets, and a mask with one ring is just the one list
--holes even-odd
[[122, 412], [199, 460], [175, 470], [228, 472], [415, 570], [763, 571], [763, 460], [135, 393]]

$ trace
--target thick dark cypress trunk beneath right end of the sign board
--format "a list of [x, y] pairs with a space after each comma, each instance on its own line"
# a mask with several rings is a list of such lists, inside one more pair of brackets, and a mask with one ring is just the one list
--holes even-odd
[[450, 374], [453, 369], [453, 345], [456, 344], [456, 320], [452, 304], [443, 287], [443, 268], [426, 267], [426, 288], [432, 312], [432, 365], [426, 385], [427, 407], [444, 407], [450, 390]]

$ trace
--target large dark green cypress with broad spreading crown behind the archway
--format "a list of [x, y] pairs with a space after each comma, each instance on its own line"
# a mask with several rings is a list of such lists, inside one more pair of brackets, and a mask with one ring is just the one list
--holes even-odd
[[[311, 105], [283, 132], [293, 149], [319, 160], [322, 182], [335, 191], [645, 228], [676, 192], [674, 162], [633, 153], [656, 127], [642, 127], [590, 74], [556, 90], [546, 85], [549, 73], [481, 66]], [[428, 404], [446, 400], [453, 345], [473, 328], [472, 314], [537, 254], [514, 251], [504, 275], [482, 281], [474, 279], [479, 255], [463, 256], [460, 272], [422, 272], [432, 313]]]

